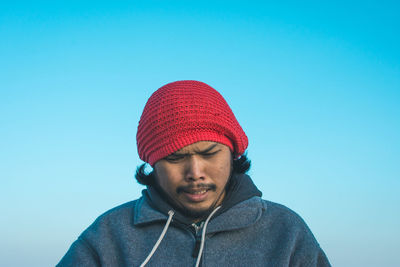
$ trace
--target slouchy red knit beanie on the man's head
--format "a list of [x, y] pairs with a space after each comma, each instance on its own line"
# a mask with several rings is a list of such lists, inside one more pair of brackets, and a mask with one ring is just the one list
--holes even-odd
[[144, 107], [136, 135], [139, 157], [158, 160], [198, 141], [227, 145], [241, 156], [248, 140], [225, 99], [198, 81], [177, 81], [155, 91]]

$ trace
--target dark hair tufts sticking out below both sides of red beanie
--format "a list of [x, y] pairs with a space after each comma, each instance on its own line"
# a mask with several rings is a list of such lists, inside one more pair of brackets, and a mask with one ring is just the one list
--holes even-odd
[[[154, 170], [147, 173], [147, 163], [143, 163], [136, 168], [135, 178], [139, 184], [142, 185], [155, 185]], [[247, 153], [243, 154], [240, 158], [233, 160], [233, 173], [244, 174], [250, 170], [251, 161], [247, 157]]]

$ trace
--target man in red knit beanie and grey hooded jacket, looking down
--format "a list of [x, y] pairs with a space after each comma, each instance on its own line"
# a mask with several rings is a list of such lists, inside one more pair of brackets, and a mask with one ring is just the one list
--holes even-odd
[[136, 137], [147, 189], [100, 216], [59, 266], [330, 266], [297, 214], [261, 199], [247, 137], [215, 89], [161, 87]]

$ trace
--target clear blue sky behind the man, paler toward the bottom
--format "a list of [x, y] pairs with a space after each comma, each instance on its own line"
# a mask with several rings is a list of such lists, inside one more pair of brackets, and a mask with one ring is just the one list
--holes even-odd
[[54, 266], [140, 196], [136, 128], [183, 79], [228, 101], [265, 199], [333, 266], [400, 266], [397, 1], [1, 1], [0, 266]]

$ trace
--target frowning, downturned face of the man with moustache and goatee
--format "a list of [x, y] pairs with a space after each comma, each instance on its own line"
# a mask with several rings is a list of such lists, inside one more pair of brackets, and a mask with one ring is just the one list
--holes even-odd
[[232, 153], [226, 145], [201, 141], [159, 160], [156, 181], [190, 217], [202, 218], [221, 204], [232, 171]]

